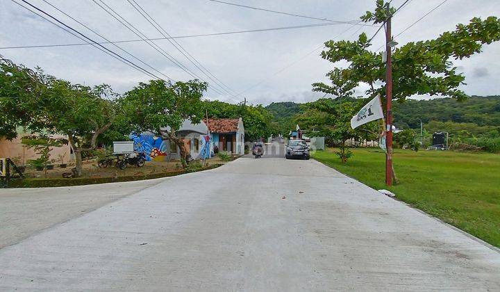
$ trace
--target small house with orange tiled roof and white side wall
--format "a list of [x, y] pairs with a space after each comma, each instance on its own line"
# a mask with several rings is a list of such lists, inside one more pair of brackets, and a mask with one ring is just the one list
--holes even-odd
[[214, 152], [227, 151], [244, 154], [244, 127], [242, 118], [209, 118], [205, 124], [210, 130]]

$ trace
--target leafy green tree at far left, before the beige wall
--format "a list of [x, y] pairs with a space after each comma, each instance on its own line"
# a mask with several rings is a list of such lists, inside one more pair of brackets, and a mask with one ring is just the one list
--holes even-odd
[[115, 119], [115, 95], [109, 86], [82, 86], [0, 60], [0, 109], [6, 115], [0, 133], [17, 136], [16, 127], [31, 133], [67, 136], [82, 173], [82, 152], [96, 148], [97, 138]]

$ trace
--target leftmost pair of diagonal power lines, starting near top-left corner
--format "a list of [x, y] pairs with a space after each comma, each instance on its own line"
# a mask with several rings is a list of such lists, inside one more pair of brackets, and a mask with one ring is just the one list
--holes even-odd
[[[116, 54], [114, 51], [111, 51], [110, 49], [106, 48], [106, 47], [103, 47], [101, 44], [98, 44], [97, 42], [95, 42], [94, 40], [92, 40], [91, 38], [88, 38], [87, 36], [83, 35], [83, 33], [79, 33], [78, 31], [76, 31], [75, 29], [73, 29], [72, 27], [68, 26], [67, 24], [64, 24], [63, 22], [61, 22], [59, 19], [56, 19], [56, 17], [53, 17], [52, 15], [49, 15], [48, 13], [44, 12], [43, 10], [41, 10], [40, 8], [38, 7], [35, 7], [33, 6], [31, 3], [28, 3], [27, 1], [24, 1], [22, 0], [24, 3], [28, 4], [29, 6], [31, 6], [32, 8], [34, 8], [35, 10], [38, 10], [40, 11], [40, 13], [43, 13], [44, 15], [47, 15], [47, 17], [50, 17], [51, 19], [53, 19], [54, 21], [58, 22], [58, 24], [56, 22], [53, 22], [51, 21], [50, 19], [48, 19], [47, 17], [44, 17], [43, 15], [41, 15], [40, 13], [32, 10], [31, 8], [28, 8], [24, 5], [22, 5], [21, 3], [18, 3], [17, 1], [15, 0], [11, 0], [12, 2], [16, 3], [17, 5], [21, 6], [22, 8], [30, 11], [31, 13], [35, 14], [35, 15], [38, 15], [39, 17], [41, 17], [42, 19], [45, 19], [47, 20], [47, 22], [50, 22], [51, 24], [55, 25], [55, 26], [58, 26], [60, 29], [63, 29], [64, 31], [66, 31], [67, 33], [71, 34], [71, 35], [74, 35], [76, 38], [79, 38], [80, 40], [83, 40], [84, 42], [88, 42], [88, 44], [91, 44], [92, 47], [95, 47], [97, 49], [99, 49], [100, 51], [103, 51], [104, 53], [112, 56], [113, 58], [119, 60], [120, 62], [128, 65], [128, 66], [131, 66], [133, 67], [135, 70], [138, 70], [139, 72], [142, 72], [144, 74], [147, 74], [148, 76], [152, 77], [152, 78], [155, 78], [155, 79], [160, 79], [158, 76], [156, 76], [155, 74], [152, 74], [151, 72], [145, 70], [144, 68], [140, 67], [139, 65], [136, 65], [135, 63], [131, 62], [130, 60], [127, 60], [126, 58], [120, 56], [119, 54]], [[90, 42], [89, 42], [90, 41]]]

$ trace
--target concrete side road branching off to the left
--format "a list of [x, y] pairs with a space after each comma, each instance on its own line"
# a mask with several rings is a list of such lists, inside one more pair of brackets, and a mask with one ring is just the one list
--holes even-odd
[[0, 189], [0, 248], [164, 180]]

